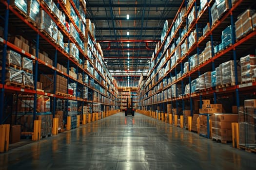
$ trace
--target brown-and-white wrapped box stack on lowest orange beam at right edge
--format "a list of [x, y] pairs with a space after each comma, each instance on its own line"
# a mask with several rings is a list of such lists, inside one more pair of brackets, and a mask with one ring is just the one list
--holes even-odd
[[255, 77], [254, 69], [256, 68], [256, 56], [247, 55], [241, 57], [240, 62], [242, 82], [252, 81]]

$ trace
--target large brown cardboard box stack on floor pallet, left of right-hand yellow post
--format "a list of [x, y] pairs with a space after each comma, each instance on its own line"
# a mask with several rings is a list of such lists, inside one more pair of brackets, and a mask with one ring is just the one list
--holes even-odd
[[221, 141], [232, 141], [231, 123], [237, 122], [237, 114], [217, 114], [211, 116], [212, 138]]

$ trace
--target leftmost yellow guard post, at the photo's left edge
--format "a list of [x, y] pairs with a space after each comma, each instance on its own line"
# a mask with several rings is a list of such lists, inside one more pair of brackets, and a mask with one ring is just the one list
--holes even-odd
[[0, 153], [9, 151], [10, 125], [0, 125]]

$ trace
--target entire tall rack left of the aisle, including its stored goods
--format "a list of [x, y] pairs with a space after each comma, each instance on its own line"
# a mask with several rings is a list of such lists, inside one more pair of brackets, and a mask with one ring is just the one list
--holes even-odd
[[[21, 124], [33, 132], [39, 115], [83, 119], [118, 107], [117, 82], [85, 18], [85, 1], [0, 0], [0, 124]], [[27, 126], [25, 119], [32, 123]], [[45, 135], [47, 135], [46, 133]]]

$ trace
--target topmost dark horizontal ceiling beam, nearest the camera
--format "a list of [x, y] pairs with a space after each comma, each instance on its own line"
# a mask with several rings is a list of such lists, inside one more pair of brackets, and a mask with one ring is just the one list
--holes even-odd
[[[177, 4], [110, 4], [112, 8], [178, 8], [180, 7], [180, 3]], [[105, 8], [104, 4], [90, 4], [89, 7], [91, 8]]]

